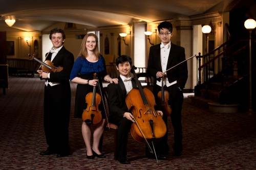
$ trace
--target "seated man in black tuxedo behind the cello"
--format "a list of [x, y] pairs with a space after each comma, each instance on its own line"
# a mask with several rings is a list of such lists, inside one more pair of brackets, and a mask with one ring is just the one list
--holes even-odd
[[[132, 59], [129, 56], [122, 55], [116, 59], [116, 67], [120, 73], [118, 77], [118, 84], [108, 85], [108, 95], [110, 104], [110, 118], [109, 121], [118, 126], [117, 130], [117, 151], [118, 160], [122, 164], [130, 163], [127, 155], [127, 140], [128, 134], [133, 123], [135, 123], [134, 116], [129, 112], [125, 103], [127, 94], [136, 88], [136, 81], [130, 77], [132, 69]], [[162, 111], [156, 111], [158, 115], [162, 116]]]

